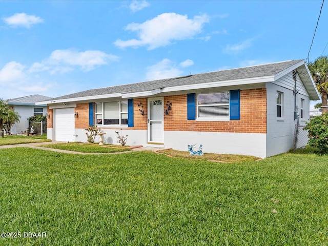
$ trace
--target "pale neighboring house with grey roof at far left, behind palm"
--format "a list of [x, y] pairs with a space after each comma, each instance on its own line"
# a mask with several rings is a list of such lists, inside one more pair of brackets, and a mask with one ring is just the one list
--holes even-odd
[[8, 105], [12, 106], [15, 112], [18, 112], [20, 121], [16, 123], [11, 134], [20, 134], [29, 127], [27, 118], [33, 115], [47, 114], [47, 105], [35, 105], [37, 101], [49, 100], [51, 97], [42, 95], [29, 95], [13, 99], [8, 99]]

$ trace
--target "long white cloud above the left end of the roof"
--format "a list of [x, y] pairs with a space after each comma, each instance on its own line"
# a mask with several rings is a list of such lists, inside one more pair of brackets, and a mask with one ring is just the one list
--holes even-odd
[[106, 65], [109, 61], [117, 61], [118, 59], [118, 56], [99, 50], [87, 50], [84, 52], [78, 52], [73, 49], [55, 50], [42, 63], [34, 63], [29, 72], [50, 70], [51, 74], [67, 73], [76, 67], [87, 72], [98, 66]]

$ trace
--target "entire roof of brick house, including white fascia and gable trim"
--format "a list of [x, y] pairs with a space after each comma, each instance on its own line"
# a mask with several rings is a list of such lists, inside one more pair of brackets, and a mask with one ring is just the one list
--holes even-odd
[[[301, 59], [209, 73], [194, 74], [176, 78], [146, 81], [128, 85], [92, 89], [65, 96], [51, 98], [51, 100], [49, 101], [42, 101], [40, 103], [51, 104], [60, 103], [63, 101], [88, 100], [118, 96], [121, 96], [122, 98], [133, 98], [138, 96], [156, 95], [161, 92], [263, 83], [274, 81], [279, 77], [282, 77], [286, 73], [291, 72], [294, 69], [299, 69], [300, 67], [302, 70], [305, 70], [305, 76], [304, 71], [302, 72], [303, 77], [308, 83], [307, 85], [305, 85], [305, 88], [308, 87], [310, 91], [312, 91], [310, 99], [316, 99], [318, 97], [318, 92], [315, 89], [314, 82], [309, 73], [308, 67], [305, 64], [305, 61]], [[306, 73], [308, 73], [308, 75], [306, 75]], [[301, 79], [303, 80], [302, 76]]]

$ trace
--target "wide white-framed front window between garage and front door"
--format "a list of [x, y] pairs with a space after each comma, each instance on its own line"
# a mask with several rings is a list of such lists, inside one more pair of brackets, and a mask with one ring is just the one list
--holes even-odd
[[96, 125], [128, 126], [128, 100], [96, 103]]

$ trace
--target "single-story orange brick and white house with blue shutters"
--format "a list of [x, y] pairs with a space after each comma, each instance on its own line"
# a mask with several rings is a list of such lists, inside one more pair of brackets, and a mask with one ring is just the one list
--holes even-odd
[[[295, 88], [296, 84], [296, 88]], [[298, 116], [318, 100], [305, 61], [289, 60], [87, 90], [51, 98], [48, 138], [87, 141], [86, 128], [128, 145], [267, 157], [289, 151]], [[296, 111], [296, 112], [295, 112]]]

